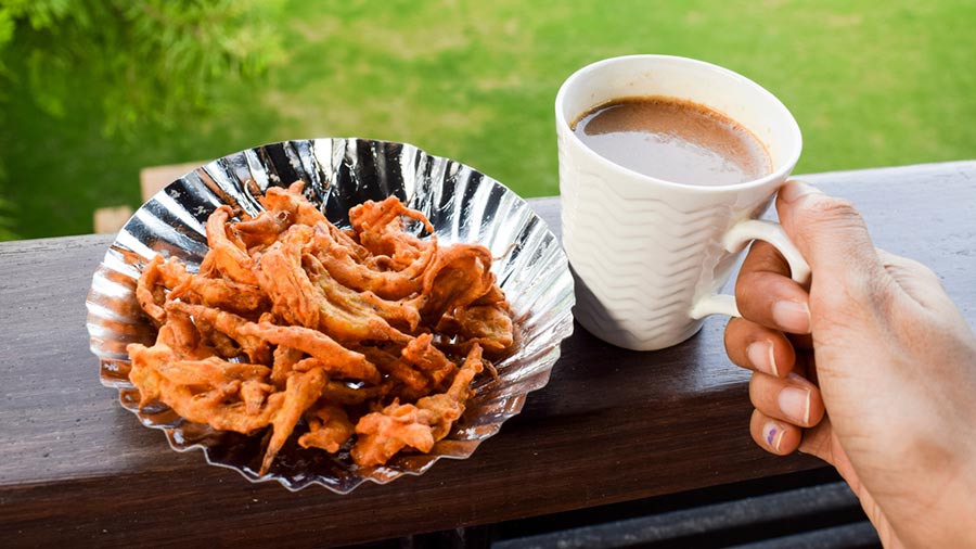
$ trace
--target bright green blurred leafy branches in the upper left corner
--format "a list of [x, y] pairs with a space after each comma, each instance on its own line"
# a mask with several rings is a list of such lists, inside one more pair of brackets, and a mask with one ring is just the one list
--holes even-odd
[[215, 86], [264, 73], [281, 54], [271, 25], [281, 2], [4, 0], [4, 77], [46, 114], [64, 117], [85, 93], [106, 135], [138, 123], [172, 127], [202, 114]]

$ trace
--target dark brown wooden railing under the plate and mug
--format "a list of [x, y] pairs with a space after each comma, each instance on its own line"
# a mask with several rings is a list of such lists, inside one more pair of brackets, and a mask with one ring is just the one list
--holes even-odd
[[[805, 177], [859, 205], [976, 321], [976, 162]], [[530, 201], [558, 232], [558, 200]], [[252, 484], [172, 451], [99, 383], [85, 298], [111, 237], [0, 244], [0, 546], [322, 547], [495, 523], [822, 467], [748, 435], [725, 319], [654, 353], [577, 325], [551, 381], [464, 461], [347, 496]]]

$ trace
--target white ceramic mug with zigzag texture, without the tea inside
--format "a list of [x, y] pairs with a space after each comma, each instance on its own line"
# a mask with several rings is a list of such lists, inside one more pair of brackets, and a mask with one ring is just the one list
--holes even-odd
[[[725, 186], [673, 183], [596, 154], [572, 125], [593, 107], [630, 97], [669, 97], [736, 120], [766, 145], [772, 173]], [[739, 316], [717, 292], [745, 245], [773, 244], [794, 280], [809, 267], [778, 224], [757, 220], [802, 148], [799, 126], [769, 91], [725, 68], [669, 55], [607, 59], [577, 71], [555, 101], [563, 246], [576, 278], [577, 320], [635, 350], [691, 337], [704, 317]]]

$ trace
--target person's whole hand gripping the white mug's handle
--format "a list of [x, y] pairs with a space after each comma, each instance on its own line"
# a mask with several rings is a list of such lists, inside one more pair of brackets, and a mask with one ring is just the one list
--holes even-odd
[[837, 468], [886, 547], [976, 547], [976, 336], [938, 277], [878, 251], [849, 203], [776, 199], [809, 289], [769, 244], [739, 276], [725, 349], [754, 370], [753, 438]]

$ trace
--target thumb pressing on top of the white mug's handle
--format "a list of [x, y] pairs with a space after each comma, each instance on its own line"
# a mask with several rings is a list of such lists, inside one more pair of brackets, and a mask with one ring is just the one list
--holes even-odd
[[850, 202], [793, 180], [780, 189], [776, 210], [814, 280], [819, 273], [852, 290], [884, 272], [864, 219]]

